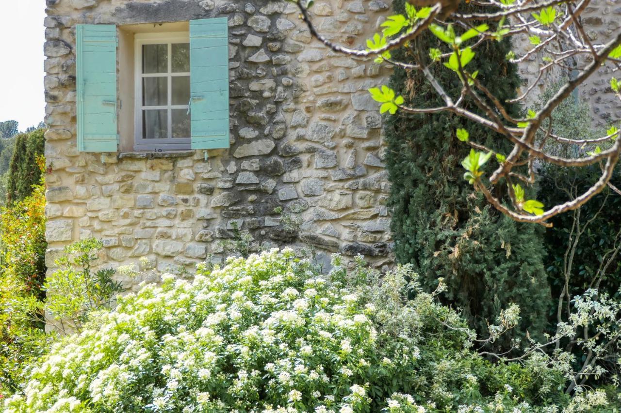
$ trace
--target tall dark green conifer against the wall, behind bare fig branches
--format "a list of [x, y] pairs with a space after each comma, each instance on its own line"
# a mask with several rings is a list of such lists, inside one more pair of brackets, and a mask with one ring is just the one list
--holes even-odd
[[[396, 11], [402, 12], [403, 1], [394, 4]], [[422, 50], [440, 47], [430, 33], [417, 41]], [[501, 102], [515, 97], [520, 85], [517, 68], [505, 60], [509, 50], [507, 40], [486, 42], [475, 49], [476, 56], [468, 66], [479, 70], [478, 79]], [[399, 60], [414, 63], [407, 49], [397, 53]], [[461, 83], [455, 74], [441, 63], [430, 69], [456, 99]], [[390, 86], [405, 97], [406, 105], [444, 105], [418, 71], [395, 69]], [[466, 105], [480, 113], [473, 102]], [[519, 116], [518, 105], [506, 108]], [[388, 118], [386, 166], [392, 182], [389, 205], [397, 260], [413, 264], [428, 288], [437, 286], [438, 277], [445, 278], [446, 302], [462, 308], [481, 333], [486, 332], [486, 319], [495, 322], [499, 311], [511, 303], [521, 309], [517, 335], [525, 334], [526, 329], [530, 334], [543, 331], [550, 287], [543, 267], [542, 231], [537, 225], [506, 218], [463, 179], [461, 160], [470, 147], [456, 138], [456, 128], [465, 128], [473, 140], [509, 153], [510, 144], [502, 136], [448, 112], [397, 112]], [[493, 159], [486, 164], [487, 176], [496, 166]], [[504, 185], [496, 190], [504, 190]]]

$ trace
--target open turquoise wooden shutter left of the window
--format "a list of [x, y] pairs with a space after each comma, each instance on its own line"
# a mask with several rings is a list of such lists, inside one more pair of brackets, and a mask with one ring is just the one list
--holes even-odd
[[117, 151], [116, 50], [115, 25], [77, 25], [76, 81], [79, 151]]

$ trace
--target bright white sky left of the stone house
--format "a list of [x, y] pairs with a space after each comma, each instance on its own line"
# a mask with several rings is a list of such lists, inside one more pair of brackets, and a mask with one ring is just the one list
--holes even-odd
[[0, 122], [20, 131], [45, 115], [43, 19], [45, 0], [0, 0]]

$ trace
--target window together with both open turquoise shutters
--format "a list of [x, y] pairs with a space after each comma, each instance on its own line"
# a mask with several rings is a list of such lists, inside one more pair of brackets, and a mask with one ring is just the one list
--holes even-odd
[[81, 152], [229, 148], [226, 17], [76, 25]]

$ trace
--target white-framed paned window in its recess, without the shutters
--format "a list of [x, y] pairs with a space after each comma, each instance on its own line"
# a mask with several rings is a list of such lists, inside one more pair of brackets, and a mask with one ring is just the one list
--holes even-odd
[[135, 148], [190, 148], [189, 33], [135, 35]]

